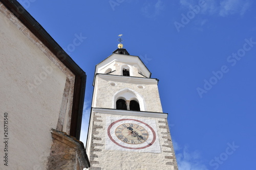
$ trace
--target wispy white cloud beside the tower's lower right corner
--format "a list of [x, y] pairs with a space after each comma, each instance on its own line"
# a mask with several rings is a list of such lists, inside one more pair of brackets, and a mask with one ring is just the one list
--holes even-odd
[[177, 142], [173, 141], [176, 159], [179, 170], [208, 170], [203, 163], [199, 151], [189, 151], [188, 147], [180, 147]]

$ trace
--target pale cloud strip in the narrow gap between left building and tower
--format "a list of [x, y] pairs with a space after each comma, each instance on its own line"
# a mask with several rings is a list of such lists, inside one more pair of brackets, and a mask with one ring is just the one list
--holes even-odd
[[83, 142], [84, 146], [86, 145], [86, 141], [87, 141], [90, 114], [91, 114], [91, 102], [84, 101], [83, 111], [82, 111], [82, 126], [81, 126], [81, 133], [80, 133], [80, 141]]

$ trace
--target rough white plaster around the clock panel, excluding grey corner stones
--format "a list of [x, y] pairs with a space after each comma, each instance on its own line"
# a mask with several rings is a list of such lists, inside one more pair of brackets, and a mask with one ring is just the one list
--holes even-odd
[[[103, 112], [101, 111], [103, 110]], [[99, 121], [94, 122], [94, 126], [97, 129], [94, 129], [94, 134], [92, 133], [92, 124], [90, 125], [91, 129], [89, 130], [89, 140], [88, 140], [88, 148], [87, 154], [92, 161], [92, 167], [101, 167], [101, 169], [169, 169], [174, 170], [174, 166], [170, 166], [166, 164], [168, 161], [175, 161], [174, 159], [165, 159], [165, 157], [172, 156], [174, 157], [173, 148], [165, 147], [167, 144], [166, 136], [169, 135], [167, 129], [160, 128], [166, 119], [159, 118], [159, 113], [152, 113], [154, 116], [152, 117], [140, 117], [139, 114], [126, 115], [118, 114], [118, 110], [113, 111], [112, 113], [117, 114], [106, 114], [108, 112], [107, 109], [92, 109], [92, 117], [91, 122], [93, 119], [97, 119]], [[97, 116], [97, 118], [95, 118]], [[94, 117], [94, 118], [93, 118]], [[117, 150], [107, 150], [106, 149], [106, 130], [108, 129], [108, 124], [106, 122], [110, 117], [115, 117], [116, 119], [121, 118], [133, 118], [133, 119], [148, 119], [154, 121], [156, 123], [157, 129], [154, 129], [159, 137], [159, 145], [161, 148], [161, 153], [141, 153], [135, 151], [117, 151]], [[146, 122], [146, 121], [145, 121]], [[100, 127], [100, 128], [99, 128]], [[167, 135], [166, 135], [167, 134]], [[93, 138], [92, 138], [93, 136]], [[99, 140], [100, 139], [100, 140]], [[171, 141], [168, 141], [169, 143]], [[90, 150], [90, 145], [93, 145], [93, 150]], [[97, 155], [96, 157], [92, 158], [93, 155]], [[98, 162], [98, 163], [93, 163]], [[131, 163], [132, 162], [132, 163]], [[90, 169], [90, 168], [89, 168]]]

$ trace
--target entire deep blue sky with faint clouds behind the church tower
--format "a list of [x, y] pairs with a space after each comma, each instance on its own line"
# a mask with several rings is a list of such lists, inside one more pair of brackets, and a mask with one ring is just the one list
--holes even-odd
[[253, 0], [18, 2], [87, 73], [82, 141], [95, 65], [123, 34], [124, 48], [160, 80], [179, 169], [255, 169]]

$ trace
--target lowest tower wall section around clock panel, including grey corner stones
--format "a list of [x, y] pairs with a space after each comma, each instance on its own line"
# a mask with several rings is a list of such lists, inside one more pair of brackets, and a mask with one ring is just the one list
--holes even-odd
[[156, 121], [156, 132], [159, 136], [161, 153], [146, 153], [105, 149], [106, 119], [110, 116], [120, 119], [139, 118], [138, 116], [110, 115], [97, 112], [92, 113], [91, 121], [93, 121], [93, 125], [91, 146], [90, 153], [87, 152], [91, 163], [90, 170], [178, 169], [167, 119], [147, 117], [147, 119], [154, 119]]

